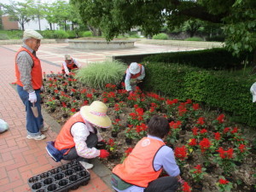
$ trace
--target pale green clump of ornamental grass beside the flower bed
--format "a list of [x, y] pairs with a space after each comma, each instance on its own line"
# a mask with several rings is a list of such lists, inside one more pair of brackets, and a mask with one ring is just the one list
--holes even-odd
[[120, 61], [92, 62], [78, 70], [75, 78], [94, 89], [102, 89], [106, 84], [119, 84], [126, 66]]

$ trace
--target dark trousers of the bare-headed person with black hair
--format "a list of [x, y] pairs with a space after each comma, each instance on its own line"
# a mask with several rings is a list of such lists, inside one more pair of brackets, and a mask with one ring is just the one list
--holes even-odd
[[177, 177], [160, 177], [150, 182], [144, 192], [175, 192], [177, 187]]

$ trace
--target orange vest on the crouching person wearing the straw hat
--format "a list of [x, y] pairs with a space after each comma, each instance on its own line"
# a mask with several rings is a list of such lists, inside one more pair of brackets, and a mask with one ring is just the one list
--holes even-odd
[[75, 113], [62, 126], [61, 131], [55, 140], [55, 148], [57, 148], [58, 150], [62, 150], [67, 148], [73, 148], [75, 146], [75, 143], [73, 141], [73, 135], [71, 134], [71, 127], [78, 122], [85, 123], [80, 112]]

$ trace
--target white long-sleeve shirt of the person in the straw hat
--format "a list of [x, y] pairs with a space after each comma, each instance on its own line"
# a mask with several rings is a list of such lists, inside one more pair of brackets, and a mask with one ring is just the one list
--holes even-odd
[[[75, 123], [71, 127], [71, 133], [73, 135], [73, 141], [75, 143], [75, 148], [77, 153], [80, 157], [84, 157], [86, 159], [96, 158], [100, 155], [100, 150], [96, 148], [88, 148], [87, 144], [85, 143], [87, 137], [90, 135], [90, 132], [95, 133], [92, 125], [86, 122]], [[102, 136], [100, 135], [99, 131], [97, 131], [98, 142], [102, 141]]]

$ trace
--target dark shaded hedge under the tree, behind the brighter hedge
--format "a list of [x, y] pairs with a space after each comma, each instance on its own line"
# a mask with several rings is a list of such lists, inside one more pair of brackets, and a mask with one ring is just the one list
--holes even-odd
[[205, 69], [223, 70], [231, 68], [242, 68], [242, 61], [252, 61], [253, 55], [243, 54], [240, 57], [233, 56], [223, 48], [193, 50], [163, 53], [145, 57], [143, 61], [154, 61], [164, 63], [180, 63], [190, 67], [201, 67]]

